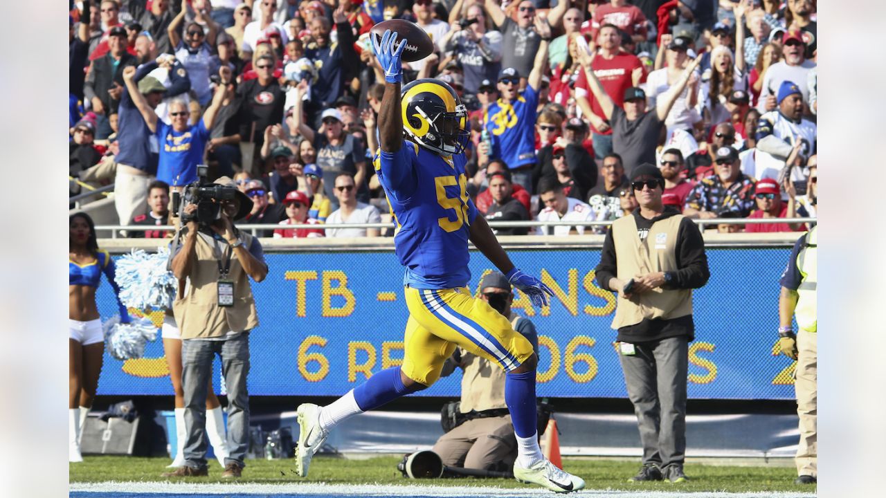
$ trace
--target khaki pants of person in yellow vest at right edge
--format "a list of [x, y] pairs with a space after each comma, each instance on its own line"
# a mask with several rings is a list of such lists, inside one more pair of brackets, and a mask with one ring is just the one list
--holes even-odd
[[797, 446], [797, 475], [818, 477], [818, 335], [816, 332], [797, 333], [797, 370], [794, 389], [797, 392], [797, 415], [800, 417], [800, 443]]

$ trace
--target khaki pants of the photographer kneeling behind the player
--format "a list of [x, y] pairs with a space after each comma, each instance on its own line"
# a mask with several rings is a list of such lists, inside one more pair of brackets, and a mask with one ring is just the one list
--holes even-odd
[[433, 452], [449, 467], [508, 471], [517, 459], [517, 437], [509, 415], [475, 418], [443, 434]]

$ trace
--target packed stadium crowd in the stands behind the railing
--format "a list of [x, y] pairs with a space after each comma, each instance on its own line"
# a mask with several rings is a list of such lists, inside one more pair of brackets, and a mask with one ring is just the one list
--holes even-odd
[[[253, 198], [241, 223], [275, 225], [260, 237], [392, 235], [276, 225], [390, 219], [372, 167], [384, 73], [369, 29], [393, 18], [435, 47], [404, 62], [403, 83], [438, 78], [470, 111], [468, 189], [487, 220], [617, 220], [646, 163], [664, 204], [692, 218], [816, 213], [813, 0], [69, 6], [71, 195], [113, 183], [122, 225], [167, 224], [168, 189], [207, 164], [209, 181], [230, 176]], [[498, 233], [527, 231], [586, 230]]]

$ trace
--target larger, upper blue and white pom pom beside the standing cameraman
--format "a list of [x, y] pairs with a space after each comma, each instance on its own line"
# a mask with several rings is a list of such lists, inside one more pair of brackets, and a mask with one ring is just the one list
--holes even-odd
[[167, 270], [169, 248], [157, 253], [134, 249], [117, 260], [114, 279], [120, 285], [120, 301], [136, 309], [172, 309], [178, 279]]

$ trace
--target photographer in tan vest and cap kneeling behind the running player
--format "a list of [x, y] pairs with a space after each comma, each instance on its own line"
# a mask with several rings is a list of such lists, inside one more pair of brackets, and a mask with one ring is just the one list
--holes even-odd
[[[480, 282], [480, 292], [489, 306], [508, 317], [514, 330], [529, 339], [538, 354], [535, 326], [510, 310], [514, 295], [508, 278], [499, 272], [490, 273]], [[447, 360], [441, 375], [448, 376], [456, 366], [463, 370], [462, 398], [444, 408], [443, 424], [447, 433], [437, 440], [433, 452], [450, 468], [509, 472], [517, 458], [517, 439], [504, 402], [505, 372], [486, 358], [461, 348]], [[546, 419], [543, 424], [547, 422]]]

